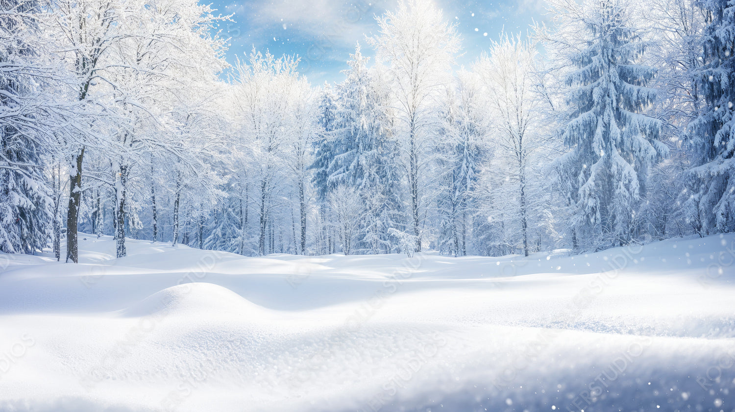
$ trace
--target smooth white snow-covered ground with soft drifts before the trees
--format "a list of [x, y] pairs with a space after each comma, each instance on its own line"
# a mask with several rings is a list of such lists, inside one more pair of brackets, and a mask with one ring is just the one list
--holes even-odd
[[[734, 411], [735, 236], [587, 256], [0, 255], [0, 411]], [[193, 283], [196, 282], [196, 283]]]

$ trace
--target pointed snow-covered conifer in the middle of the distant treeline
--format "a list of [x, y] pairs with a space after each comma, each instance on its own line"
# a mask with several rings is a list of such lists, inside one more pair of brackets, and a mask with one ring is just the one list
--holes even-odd
[[[365, 199], [365, 247], [373, 253], [386, 250], [386, 229], [398, 209], [395, 201], [395, 148], [390, 140], [390, 120], [384, 95], [376, 87], [359, 44], [337, 85], [336, 101], [323, 101], [323, 140], [315, 165], [315, 181], [322, 193], [340, 184], [357, 189]], [[329, 98], [329, 95], [325, 95]], [[329, 129], [329, 130], [328, 130]]]

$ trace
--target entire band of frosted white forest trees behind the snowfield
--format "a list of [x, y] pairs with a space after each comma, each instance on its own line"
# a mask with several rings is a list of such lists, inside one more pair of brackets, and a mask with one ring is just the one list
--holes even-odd
[[[0, 0], [0, 250], [577, 253], [735, 230], [735, 4], [549, 0], [458, 67], [426, 0], [337, 84], [196, 0]], [[374, 51], [369, 59], [365, 48]], [[66, 239], [66, 242], [62, 242]], [[63, 244], [65, 248], [62, 248]]]

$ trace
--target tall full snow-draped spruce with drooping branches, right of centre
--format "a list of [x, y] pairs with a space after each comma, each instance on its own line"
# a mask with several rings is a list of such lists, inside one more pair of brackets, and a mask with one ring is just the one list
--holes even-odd
[[637, 231], [648, 171], [667, 153], [657, 140], [660, 121], [642, 113], [656, 97], [647, 87], [655, 70], [639, 64], [647, 45], [621, 1], [553, 7], [557, 29], [546, 36], [547, 46], [574, 68], [566, 77], [569, 150], [557, 165], [576, 239], [597, 249], [625, 245]]

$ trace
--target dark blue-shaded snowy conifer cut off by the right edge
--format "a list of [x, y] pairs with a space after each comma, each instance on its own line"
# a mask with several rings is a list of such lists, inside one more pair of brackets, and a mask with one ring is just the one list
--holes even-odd
[[689, 124], [695, 156], [689, 214], [701, 235], [735, 231], [735, 4], [705, 0], [703, 64], [698, 85], [706, 105]]

